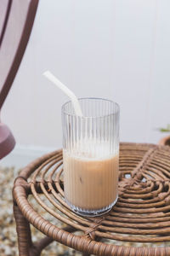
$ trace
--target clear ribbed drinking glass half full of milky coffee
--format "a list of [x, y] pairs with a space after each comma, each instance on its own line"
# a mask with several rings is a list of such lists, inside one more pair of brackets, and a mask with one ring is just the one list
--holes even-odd
[[87, 216], [108, 212], [117, 200], [119, 106], [100, 98], [62, 107], [65, 201]]

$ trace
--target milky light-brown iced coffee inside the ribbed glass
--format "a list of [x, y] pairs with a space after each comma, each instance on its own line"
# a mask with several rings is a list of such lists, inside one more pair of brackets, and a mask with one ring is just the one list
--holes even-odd
[[116, 201], [118, 154], [85, 157], [63, 150], [65, 199], [72, 206], [98, 210]]

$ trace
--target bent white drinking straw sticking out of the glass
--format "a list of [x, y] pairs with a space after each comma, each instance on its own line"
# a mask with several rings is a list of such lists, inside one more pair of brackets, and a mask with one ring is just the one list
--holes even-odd
[[55, 84], [60, 90], [62, 90], [67, 96], [70, 97], [71, 102], [73, 104], [74, 110], [76, 115], [82, 116], [82, 109], [80, 108], [80, 104], [78, 102], [77, 96], [65, 86], [65, 84], [62, 84], [59, 79], [57, 79], [53, 73], [50, 71], [46, 71], [43, 73], [43, 75], [49, 79], [53, 84]]

